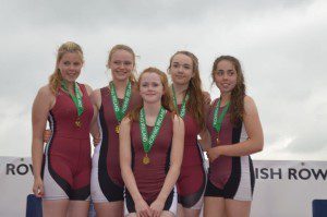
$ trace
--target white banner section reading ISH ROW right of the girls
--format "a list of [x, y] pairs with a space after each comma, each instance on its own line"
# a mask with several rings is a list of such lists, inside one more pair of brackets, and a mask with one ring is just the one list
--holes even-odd
[[327, 200], [327, 161], [254, 160], [254, 168], [253, 217], [310, 217], [313, 200]]

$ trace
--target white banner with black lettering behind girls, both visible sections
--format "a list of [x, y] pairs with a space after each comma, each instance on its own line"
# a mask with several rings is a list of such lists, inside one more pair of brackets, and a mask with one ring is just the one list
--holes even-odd
[[[313, 200], [327, 200], [327, 161], [254, 160], [254, 167], [252, 217], [308, 217]], [[0, 157], [0, 216], [25, 216], [32, 184], [31, 158]]]

